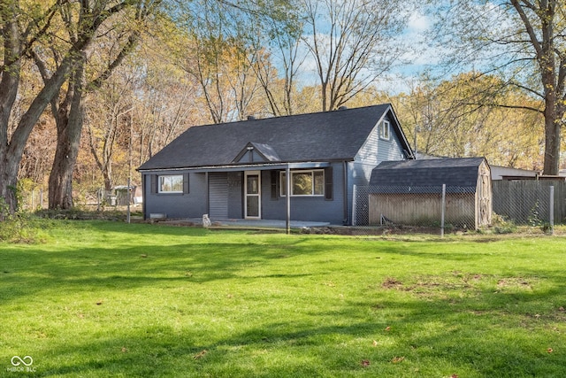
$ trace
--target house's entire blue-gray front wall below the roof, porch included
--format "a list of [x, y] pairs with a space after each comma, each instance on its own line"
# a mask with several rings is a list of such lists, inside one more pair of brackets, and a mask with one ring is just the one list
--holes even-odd
[[[209, 166], [144, 174], [144, 219], [309, 228], [347, 219], [344, 162]], [[290, 178], [290, 180], [287, 180]], [[166, 183], [175, 190], [167, 190]], [[181, 191], [182, 183], [182, 191]], [[287, 195], [290, 194], [290, 195]]]

